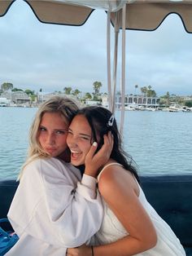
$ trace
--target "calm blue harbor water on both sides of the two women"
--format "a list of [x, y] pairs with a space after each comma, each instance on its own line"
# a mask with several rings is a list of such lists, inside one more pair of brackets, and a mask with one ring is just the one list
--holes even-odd
[[[36, 111], [0, 108], [0, 179], [17, 176]], [[192, 113], [127, 111], [124, 149], [137, 162], [139, 174], [192, 173], [191, 127]]]

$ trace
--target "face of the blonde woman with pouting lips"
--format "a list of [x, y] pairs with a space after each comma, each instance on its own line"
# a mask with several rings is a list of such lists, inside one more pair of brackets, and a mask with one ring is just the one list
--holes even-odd
[[51, 157], [59, 157], [67, 146], [68, 125], [60, 113], [44, 113], [39, 130], [38, 141], [41, 148]]

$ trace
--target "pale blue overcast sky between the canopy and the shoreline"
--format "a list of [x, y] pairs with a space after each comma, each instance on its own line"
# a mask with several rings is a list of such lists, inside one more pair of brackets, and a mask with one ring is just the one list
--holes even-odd
[[[0, 17], [0, 84], [52, 92], [66, 86], [93, 92], [102, 82], [107, 92], [106, 22], [94, 11], [81, 27], [40, 23], [26, 2], [17, 0]], [[192, 95], [192, 34], [177, 15], [169, 15], [155, 32], [126, 32], [126, 93], [152, 86]], [[118, 88], [117, 88], [118, 90]]]

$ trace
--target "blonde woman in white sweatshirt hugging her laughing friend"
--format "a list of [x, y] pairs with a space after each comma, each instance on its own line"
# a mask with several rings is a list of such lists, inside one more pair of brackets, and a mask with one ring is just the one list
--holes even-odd
[[8, 212], [20, 240], [7, 255], [65, 255], [67, 247], [82, 245], [100, 227], [103, 206], [92, 173], [107, 161], [112, 138], [104, 137], [97, 154], [97, 145], [92, 146], [81, 177], [80, 170], [67, 163], [68, 126], [77, 109], [71, 99], [53, 97], [37, 111], [28, 158]]

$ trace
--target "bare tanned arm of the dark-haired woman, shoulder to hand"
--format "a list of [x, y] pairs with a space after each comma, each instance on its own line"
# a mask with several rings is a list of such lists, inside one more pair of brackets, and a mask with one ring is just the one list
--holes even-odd
[[[111, 166], [101, 174], [98, 185], [107, 205], [129, 232], [129, 236], [108, 245], [95, 246], [94, 256], [135, 255], [154, 247], [157, 241], [155, 227], [138, 200], [139, 191], [132, 174], [121, 167]], [[73, 252], [69, 249], [68, 255], [75, 255]], [[91, 255], [90, 247], [85, 245], [78, 252], [78, 256]]]

